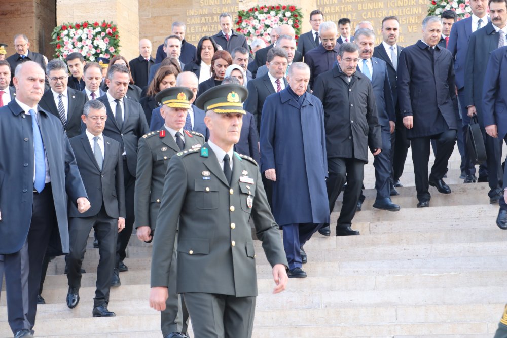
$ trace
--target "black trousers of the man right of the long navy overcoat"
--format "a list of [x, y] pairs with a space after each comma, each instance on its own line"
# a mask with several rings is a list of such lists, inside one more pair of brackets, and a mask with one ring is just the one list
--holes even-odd
[[328, 158], [328, 179], [325, 185], [328, 190], [329, 211], [333, 212], [336, 199], [347, 182], [343, 192], [343, 203], [338, 217], [337, 227], [349, 227], [354, 218], [361, 186], [365, 177], [365, 162], [353, 158]]

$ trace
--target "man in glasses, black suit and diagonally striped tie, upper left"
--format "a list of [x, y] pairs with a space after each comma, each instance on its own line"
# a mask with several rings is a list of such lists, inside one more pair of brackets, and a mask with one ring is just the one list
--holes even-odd
[[44, 93], [39, 104], [60, 119], [67, 137], [81, 134], [81, 115], [88, 97], [67, 86], [67, 65], [62, 60], [48, 62], [46, 72], [51, 88]]

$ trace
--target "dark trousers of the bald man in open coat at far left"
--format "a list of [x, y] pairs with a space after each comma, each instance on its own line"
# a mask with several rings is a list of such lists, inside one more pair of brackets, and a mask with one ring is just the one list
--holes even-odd
[[7, 317], [13, 333], [35, 325], [41, 270], [53, 227], [57, 227], [51, 184], [33, 193], [32, 218], [25, 245], [4, 255]]

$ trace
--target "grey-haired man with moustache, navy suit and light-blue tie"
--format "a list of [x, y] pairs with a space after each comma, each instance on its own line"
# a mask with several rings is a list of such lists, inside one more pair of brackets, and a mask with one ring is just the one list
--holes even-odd
[[354, 34], [354, 42], [359, 49], [357, 68], [372, 82], [377, 115], [382, 135], [382, 152], [375, 157], [375, 189], [377, 198], [373, 207], [382, 210], [399, 211], [400, 206], [392, 203], [390, 198], [391, 179], [391, 134], [394, 133], [396, 116], [392, 99], [391, 85], [385, 61], [372, 57], [375, 34], [367, 28], [359, 29]]

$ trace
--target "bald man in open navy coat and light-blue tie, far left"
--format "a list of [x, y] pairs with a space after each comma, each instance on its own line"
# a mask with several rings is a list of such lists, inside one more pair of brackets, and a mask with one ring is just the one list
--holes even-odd
[[16, 99], [0, 108], [0, 142], [9, 145], [0, 153], [0, 255], [8, 321], [16, 338], [33, 337], [42, 261], [50, 243], [60, 254], [69, 250], [67, 196], [79, 212], [90, 208], [61, 122], [38, 105], [44, 81], [39, 64], [24, 62], [14, 76]]

